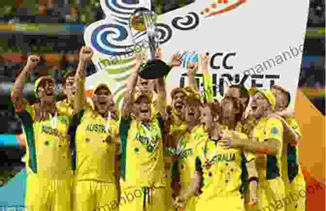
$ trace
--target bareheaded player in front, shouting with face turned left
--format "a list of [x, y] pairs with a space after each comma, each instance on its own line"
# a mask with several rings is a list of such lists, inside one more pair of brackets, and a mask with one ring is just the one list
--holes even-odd
[[[196, 170], [193, 183], [181, 191], [177, 206], [194, 195], [201, 186], [196, 211], [218, 206], [222, 210], [244, 210], [245, 182], [248, 177], [246, 158], [241, 149], [229, 149], [220, 145], [222, 137], [247, 138], [220, 125], [221, 108], [218, 103], [207, 102], [201, 109], [200, 122], [208, 136], [196, 148]], [[188, 210], [186, 208], [186, 210]]]

